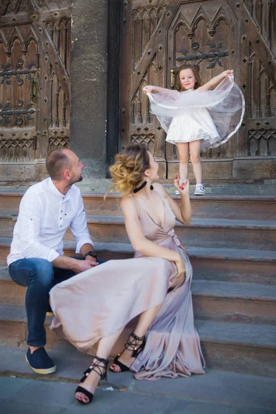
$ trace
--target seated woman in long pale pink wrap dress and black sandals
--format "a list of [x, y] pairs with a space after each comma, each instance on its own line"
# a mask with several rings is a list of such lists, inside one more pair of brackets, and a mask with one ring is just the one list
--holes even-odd
[[112, 371], [131, 369], [141, 380], [204, 373], [205, 366], [193, 322], [193, 270], [173, 230], [175, 217], [190, 223], [188, 180], [175, 179], [179, 207], [160, 184], [152, 186], [159, 178], [158, 164], [139, 145], [117, 155], [110, 173], [112, 188], [124, 193], [121, 209], [135, 258], [110, 260], [50, 292], [52, 328], [62, 327], [70, 342], [86, 353], [98, 342], [97, 355], [75, 393], [83, 404], [92, 400], [100, 378], [106, 377], [112, 347], [137, 315], [137, 326]]

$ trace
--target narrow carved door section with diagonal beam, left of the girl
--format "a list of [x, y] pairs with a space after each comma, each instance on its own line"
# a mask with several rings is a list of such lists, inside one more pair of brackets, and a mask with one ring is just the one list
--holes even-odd
[[133, 9], [124, 9], [124, 16], [131, 19], [131, 25], [123, 28], [126, 43], [121, 48], [123, 66], [119, 123], [121, 148], [130, 143], [146, 144], [159, 162], [161, 177], [166, 177], [164, 131], [149, 112], [148, 97], [144, 95], [143, 88], [148, 84], [164, 84], [164, 46], [156, 35], [164, 20], [164, 10], [164, 6], [140, 7], [139, 2], [133, 3]]

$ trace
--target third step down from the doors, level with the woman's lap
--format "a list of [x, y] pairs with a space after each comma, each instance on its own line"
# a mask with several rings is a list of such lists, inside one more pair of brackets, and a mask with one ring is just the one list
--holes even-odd
[[[10, 253], [11, 241], [0, 238], [1, 266]], [[134, 253], [130, 244], [120, 243], [95, 243], [95, 250], [103, 260], [129, 259]], [[193, 264], [193, 279], [276, 285], [275, 251], [199, 247], [188, 247], [187, 251]], [[76, 255], [75, 242], [64, 242], [64, 254]]]

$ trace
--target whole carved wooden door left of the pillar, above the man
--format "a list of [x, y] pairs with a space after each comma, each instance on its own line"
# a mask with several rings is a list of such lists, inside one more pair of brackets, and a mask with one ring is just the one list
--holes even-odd
[[69, 146], [70, 0], [0, 6], [0, 161]]

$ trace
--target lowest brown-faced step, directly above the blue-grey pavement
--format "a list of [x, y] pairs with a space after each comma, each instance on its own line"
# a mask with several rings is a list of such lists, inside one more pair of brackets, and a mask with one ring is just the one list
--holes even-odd
[[[5, 346], [26, 346], [26, 312], [21, 306], [0, 307], [0, 341]], [[70, 349], [72, 346], [48, 328], [48, 348]], [[132, 321], [112, 350], [115, 355], [124, 347], [133, 328]], [[252, 375], [276, 377], [276, 327], [270, 325], [238, 324], [195, 320], [208, 368], [235, 371]]]

